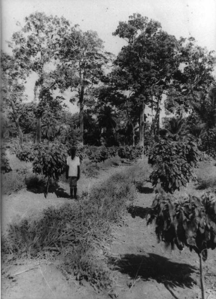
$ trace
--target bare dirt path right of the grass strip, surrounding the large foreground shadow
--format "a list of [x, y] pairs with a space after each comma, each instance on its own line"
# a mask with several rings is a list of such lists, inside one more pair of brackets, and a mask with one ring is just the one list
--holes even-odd
[[[200, 299], [199, 258], [189, 249], [166, 249], [157, 242], [153, 225], [146, 226], [146, 213], [154, 197], [151, 184], [125, 215], [111, 247], [112, 264], [118, 274], [119, 299]], [[216, 299], [216, 252], [209, 250], [204, 264], [206, 298]]]

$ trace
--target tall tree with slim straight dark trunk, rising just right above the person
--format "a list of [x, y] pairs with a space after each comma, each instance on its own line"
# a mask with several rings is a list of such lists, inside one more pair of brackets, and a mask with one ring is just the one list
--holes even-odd
[[103, 41], [97, 32], [74, 28], [63, 41], [60, 56], [67, 74], [62, 86], [75, 92], [71, 102], [78, 100], [80, 106], [80, 141], [83, 143], [84, 106], [91, 88], [104, 77], [112, 55], [104, 51]]

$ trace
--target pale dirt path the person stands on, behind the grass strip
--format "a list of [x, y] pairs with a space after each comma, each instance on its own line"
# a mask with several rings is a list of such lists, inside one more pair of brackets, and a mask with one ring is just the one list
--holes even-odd
[[[94, 167], [94, 166], [93, 166]], [[86, 177], [81, 175], [78, 181], [78, 195], [88, 192], [95, 184], [106, 181], [114, 173], [121, 171], [125, 166], [101, 167], [97, 171], [97, 176]], [[10, 195], [3, 195], [1, 198], [1, 233], [7, 229], [7, 225], [14, 221], [19, 221], [25, 217], [37, 217], [41, 211], [49, 206], [59, 206], [70, 200], [70, 188], [68, 183], [59, 182], [59, 189], [50, 192], [47, 198], [42, 190], [22, 189]], [[70, 200], [71, 202], [72, 200]]]

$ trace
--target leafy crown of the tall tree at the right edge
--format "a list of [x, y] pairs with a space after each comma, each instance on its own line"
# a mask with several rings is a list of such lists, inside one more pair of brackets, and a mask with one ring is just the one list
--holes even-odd
[[198, 103], [198, 93], [207, 94], [214, 84], [216, 56], [196, 44], [193, 37], [180, 39], [180, 67], [174, 73], [172, 88], [167, 93], [165, 108], [172, 113], [189, 112]]

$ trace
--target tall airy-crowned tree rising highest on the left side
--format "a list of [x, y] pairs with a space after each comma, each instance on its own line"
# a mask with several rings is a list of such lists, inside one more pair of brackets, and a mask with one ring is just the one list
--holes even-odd
[[[64, 17], [36, 12], [25, 17], [24, 26], [12, 35], [9, 46], [20, 68], [37, 74], [34, 87], [37, 104], [64, 77], [64, 68], [60, 67], [58, 56], [61, 40], [69, 30], [70, 23]], [[43, 111], [37, 114], [36, 143], [41, 141], [42, 114]]]

